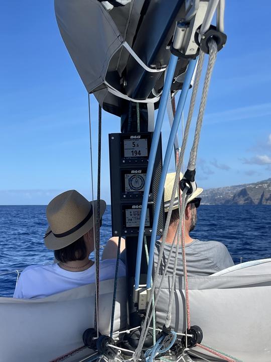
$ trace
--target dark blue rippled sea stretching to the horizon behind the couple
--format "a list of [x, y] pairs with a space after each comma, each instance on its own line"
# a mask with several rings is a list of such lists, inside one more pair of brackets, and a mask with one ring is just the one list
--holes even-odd
[[[47, 229], [46, 206], [0, 206], [0, 296], [10, 297], [17, 273], [30, 264], [53, 261], [43, 244]], [[223, 242], [235, 263], [271, 257], [270, 206], [202, 205], [191, 236]], [[101, 244], [111, 236], [111, 213], [102, 219]]]

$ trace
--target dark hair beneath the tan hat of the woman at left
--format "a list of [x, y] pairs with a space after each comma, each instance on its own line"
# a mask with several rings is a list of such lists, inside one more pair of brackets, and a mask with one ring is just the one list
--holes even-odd
[[55, 258], [61, 262], [84, 260], [87, 257], [87, 249], [83, 236], [62, 249], [54, 250], [54, 253]]

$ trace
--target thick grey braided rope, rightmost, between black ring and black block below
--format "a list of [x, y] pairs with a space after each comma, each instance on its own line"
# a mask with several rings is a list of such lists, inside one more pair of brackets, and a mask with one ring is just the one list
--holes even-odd
[[187, 167], [190, 170], [194, 170], [196, 167], [196, 158], [197, 158], [197, 151], [198, 151], [198, 145], [199, 145], [200, 131], [201, 131], [203, 115], [204, 115], [204, 111], [205, 111], [205, 107], [206, 107], [211, 76], [212, 76], [213, 68], [214, 68], [215, 61], [216, 61], [216, 55], [217, 55], [217, 44], [213, 39], [209, 40], [208, 46], [209, 46], [208, 66], [207, 66], [205, 79], [204, 79], [204, 83], [203, 83], [203, 90], [202, 90], [202, 96], [201, 96], [200, 106], [199, 106], [199, 113], [198, 113], [198, 118], [197, 118], [197, 123], [196, 123], [194, 142], [193, 142], [193, 145], [191, 148], [189, 163], [188, 163], [188, 167]]

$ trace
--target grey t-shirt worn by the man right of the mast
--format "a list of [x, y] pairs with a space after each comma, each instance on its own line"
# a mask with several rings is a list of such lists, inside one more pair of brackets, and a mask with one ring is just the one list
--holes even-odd
[[[154, 266], [156, 268], [158, 256], [161, 248], [161, 242], [156, 242]], [[159, 268], [159, 274], [162, 275], [165, 270], [165, 265], [169, 257], [171, 244], [166, 243], [163, 251], [162, 261]], [[177, 263], [177, 276], [183, 276], [183, 261], [182, 261], [182, 248], [179, 245], [178, 250], [178, 263]], [[169, 262], [167, 275], [173, 274], [174, 260], [176, 255], [176, 245], [173, 247], [173, 252]], [[211, 275], [219, 270], [226, 269], [234, 265], [234, 262], [224, 244], [219, 241], [200, 241], [193, 239], [189, 244], [185, 245], [185, 256], [187, 265], [188, 276], [198, 275], [206, 276]]]

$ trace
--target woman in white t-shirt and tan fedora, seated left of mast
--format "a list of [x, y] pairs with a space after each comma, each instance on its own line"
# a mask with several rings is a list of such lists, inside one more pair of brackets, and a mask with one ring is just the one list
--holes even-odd
[[[101, 217], [105, 208], [100, 200]], [[42, 298], [95, 282], [95, 265], [89, 254], [94, 250], [97, 200], [89, 202], [75, 190], [66, 191], [49, 203], [46, 216], [49, 227], [44, 243], [54, 250], [58, 262], [25, 268], [14, 298]], [[100, 262], [100, 280], [114, 278], [116, 250], [115, 239], [109, 239]], [[125, 265], [120, 260], [118, 277], [123, 276]]]

